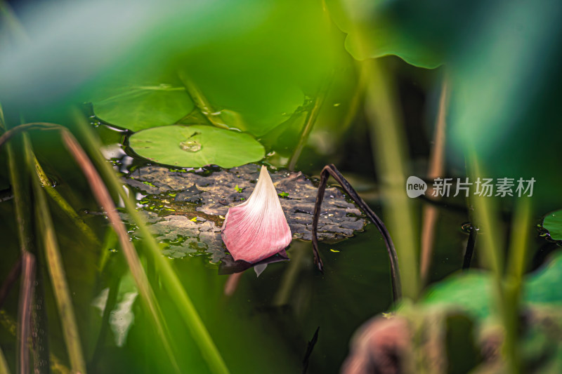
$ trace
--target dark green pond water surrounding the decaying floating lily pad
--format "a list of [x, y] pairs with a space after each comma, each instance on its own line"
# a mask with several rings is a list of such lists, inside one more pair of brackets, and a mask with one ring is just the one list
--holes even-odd
[[[98, 133], [106, 145], [103, 153], [122, 175], [145, 166], [144, 161], [123, 152], [124, 133], [107, 126], [99, 126]], [[51, 162], [56, 160], [51, 159]], [[87, 186], [82, 182], [84, 189], [70, 189], [70, 185], [80, 184], [76, 166], [63, 166], [61, 170], [60, 165], [63, 163], [57, 165], [57, 174], [50, 174], [56, 180], [56, 188], [70, 196], [74, 206], [81, 207], [82, 218], [100, 238], [105, 238], [100, 250], [100, 245], [77, 235], [72, 222], [51, 205], [89, 370], [93, 373], [171, 372], [171, 364], [159, 345], [150, 316], [141, 305], [119, 253], [115, 235], [103, 213], [96, 208]], [[320, 170], [322, 165], [315, 167]], [[344, 174], [358, 173], [360, 167], [344, 171]], [[52, 172], [49, 163], [46, 169]], [[148, 206], [140, 189], [130, 186], [129, 189], [137, 196], [139, 206]], [[364, 196], [380, 214], [377, 194], [365, 193]], [[369, 199], [370, 196], [375, 198]], [[0, 203], [6, 248], [17, 246], [12, 208], [9, 200]], [[465, 221], [462, 213], [440, 209], [431, 279], [442, 279], [459, 269], [468, 237], [460, 229]], [[130, 230], [134, 238], [134, 227]], [[138, 240], [135, 243], [142, 245]], [[162, 243], [163, 255], [169, 245], [169, 241]], [[371, 223], [348, 239], [322, 241], [320, 251], [325, 263], [324, 274], [313, 265], [311, 241], [299, 239], [294, 239], [287, 251], [289, 261], [269, 264], [260, 276], [254, 269], [219, 275], [218, 263], [205, 251], [175, 256], [181, 258], [166, 257], [176, 269], [232, 373], [302, 372], [308, 342], [313, 340], [317, 329], [316, 343], [308, 355], [307, 372], [336, 373], [348, 353], [355, 330], [371, 316], [391, 307], [388, 258], [384, 241]], [[15, 251], [8, 253], [1, 262], [2, 274], [7, 274], [16, 260], [9, 257]], [[143, 261], [150, 282], [158, 285], [159, 274], [155, 267], [147, 258]], [[46, 289], [48, 314], [55, 316], [53, 295], [48, 287]], [[192, 373], [206, 373], [207, 364], [185, 328], [182, 311], [176, 309], [166, 289], [155, 286], [155, 292], [173, 349], [178, 352], [179, 366], [189, 368]], [[17, 315], [17, 296], [12, 292], [8, 299], [0, 344], [13, 340], [8, 330]], [[104, 320], [106, 307], [111, 312]], [[65, 345], [58, 319], [49, 320], [48, 336], [51, 354], [65, 363]], [[3, 344], [4, 347], [6, 356], [15, 354], [9, 345]]]

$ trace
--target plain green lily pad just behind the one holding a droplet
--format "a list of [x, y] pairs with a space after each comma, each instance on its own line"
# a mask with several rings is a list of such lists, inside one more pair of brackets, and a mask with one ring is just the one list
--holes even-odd
[[92, 104], [98, 118], [132, 131], [171, 125], [194, 108], [185, 88], [169, 84], [123, 88]]

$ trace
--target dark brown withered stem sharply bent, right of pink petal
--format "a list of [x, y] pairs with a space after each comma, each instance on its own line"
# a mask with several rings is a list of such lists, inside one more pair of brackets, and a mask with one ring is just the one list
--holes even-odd
[[312, 218], [312, 246], [314, 253], [314, 263], [323, 272], [324, 265], [322, 264], [322, 259], [320, 258], [320, 253], [318, 252], [318, 219], [320, 218], [320, 208], [322, 208], [322, 200], [324, 200], [324, 192], [326, 190], [326, 184], [329, 176], [332, 177], [343, 187], [344, 191], [355, 201], [359, 208], [367, 215], [367, 217], [377, 226], [379, 232], [383, 236], [384, 243], [386, 245], [386, 251], [388, 252], [388, 260], [391, 265], [391, 278], [392, 278], [392, 293], [395, 302], [402, 298], [402, 286], [400, 283], [400, 269], [398, 268], [398, 256], [396, 255], [396, 249], [394, 248], [394, 243], [391, 239], [391, 234], [388, 232], [384, 223], [379, 218], [374, 211], [369, 208], [367, 203], [361, 199], [359, 194], [355, 192], [355, 189], [351, 187], [349, 182], [344, 178], [344, 175], [339, 173], [336, 166], [333, 164], [327, 165], [322, 169], [320, 173], [320, 185], [318, 186], [318, 195], [316, 196], [316, 203], [314, 206], [314, 215]]

